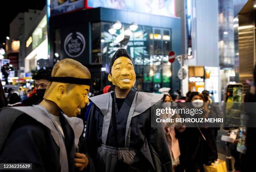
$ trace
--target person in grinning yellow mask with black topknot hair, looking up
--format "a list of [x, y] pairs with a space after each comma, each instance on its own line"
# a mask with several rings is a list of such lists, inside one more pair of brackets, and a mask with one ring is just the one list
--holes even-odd
[[97, 172], [172, 172], [172, 160], [161, 127], [151, 127], [151, 110], [163, 95], [140, 92], [130, 53], [118, 49], [109, 63], [115, 90], [91, 97], [86, 128], [89, 155]]

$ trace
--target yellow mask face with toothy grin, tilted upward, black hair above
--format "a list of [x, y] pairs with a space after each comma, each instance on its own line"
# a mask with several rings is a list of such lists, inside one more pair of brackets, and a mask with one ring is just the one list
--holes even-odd
[[134, 86], [136, 74], [132, 61], [127, 57], [119, 57], [114, 61], [108, 81], [120, 89], [131, 89]]

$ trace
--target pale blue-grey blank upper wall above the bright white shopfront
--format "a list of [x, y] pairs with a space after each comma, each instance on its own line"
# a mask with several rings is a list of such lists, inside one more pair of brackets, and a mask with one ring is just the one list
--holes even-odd
[[192, 0], [192, 6], [193, 58], [185, 65], [218, 67], [218, 1]]

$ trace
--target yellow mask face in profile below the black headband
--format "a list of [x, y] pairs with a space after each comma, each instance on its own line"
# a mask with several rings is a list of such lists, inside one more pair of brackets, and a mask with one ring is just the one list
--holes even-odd
[[62, 96], [59, 100], [59, 108], [69, 117], [77, 116], [81, 113], [81, 109], [89, 102], [88, 93], [90, 86], [74, 85], [72, 89], [63, 90]]

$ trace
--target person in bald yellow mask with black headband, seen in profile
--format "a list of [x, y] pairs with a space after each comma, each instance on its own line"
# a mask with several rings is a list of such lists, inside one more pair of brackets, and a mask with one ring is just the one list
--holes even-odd
[[54, 65], [39, 105], [1, 109], [0, 162], [32, 163], [31, 172], [93, 167], [87, 167], [83, 121], [75, 117], [88, 103], [90, 78], [85, 66], [65, 58]]

